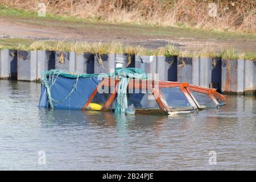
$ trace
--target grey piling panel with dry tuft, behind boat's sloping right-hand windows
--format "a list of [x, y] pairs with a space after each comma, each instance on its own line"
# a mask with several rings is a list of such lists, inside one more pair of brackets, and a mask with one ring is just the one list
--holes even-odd
[[192, 84], [192, 57], [178, 57], [177, 81]]

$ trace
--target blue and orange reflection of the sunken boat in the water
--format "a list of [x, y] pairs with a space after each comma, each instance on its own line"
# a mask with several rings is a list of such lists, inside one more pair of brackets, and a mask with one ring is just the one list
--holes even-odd
[[[137, 130], [150, 127], [160, 130], [166, 115], [115, 115], [106, 111], [81, 111], [46, 109], [39, 107], [39, 117], [44, 127], [59, 126], [98, 126], [102, 128], [116, 127], [118, 130]], [[180, 115], [180, 118], [186, 116]]]

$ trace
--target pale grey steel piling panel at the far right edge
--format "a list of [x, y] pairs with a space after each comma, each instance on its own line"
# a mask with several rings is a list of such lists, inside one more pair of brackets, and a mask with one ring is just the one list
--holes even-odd
[[244, 69], [245, 95], [254, 95], [256, 94], [256, 61], [245, 60]]

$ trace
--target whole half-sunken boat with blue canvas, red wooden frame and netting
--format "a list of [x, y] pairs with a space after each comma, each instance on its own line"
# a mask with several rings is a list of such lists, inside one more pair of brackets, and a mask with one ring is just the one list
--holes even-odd
[[116, 68], [108, 74], [43, 71], [39, 101], [40, 107], [126, 114], [187, 113], [224, 105], [225, 97], [216, 89], [152, 80], [138, 68]]

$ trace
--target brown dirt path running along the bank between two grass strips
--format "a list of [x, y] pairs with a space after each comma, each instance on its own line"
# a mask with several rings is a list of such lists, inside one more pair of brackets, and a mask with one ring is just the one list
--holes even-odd
[[56, 39], [86, 42], [122, 42], [158, 48], [168, 42], [183, 51], [221, 50], [255, 52], [256, 36], [212, 34], [179, 28], [113, 25], [106, 23], [65, 22], [47, 19], [0, 17], [0, 36]]

